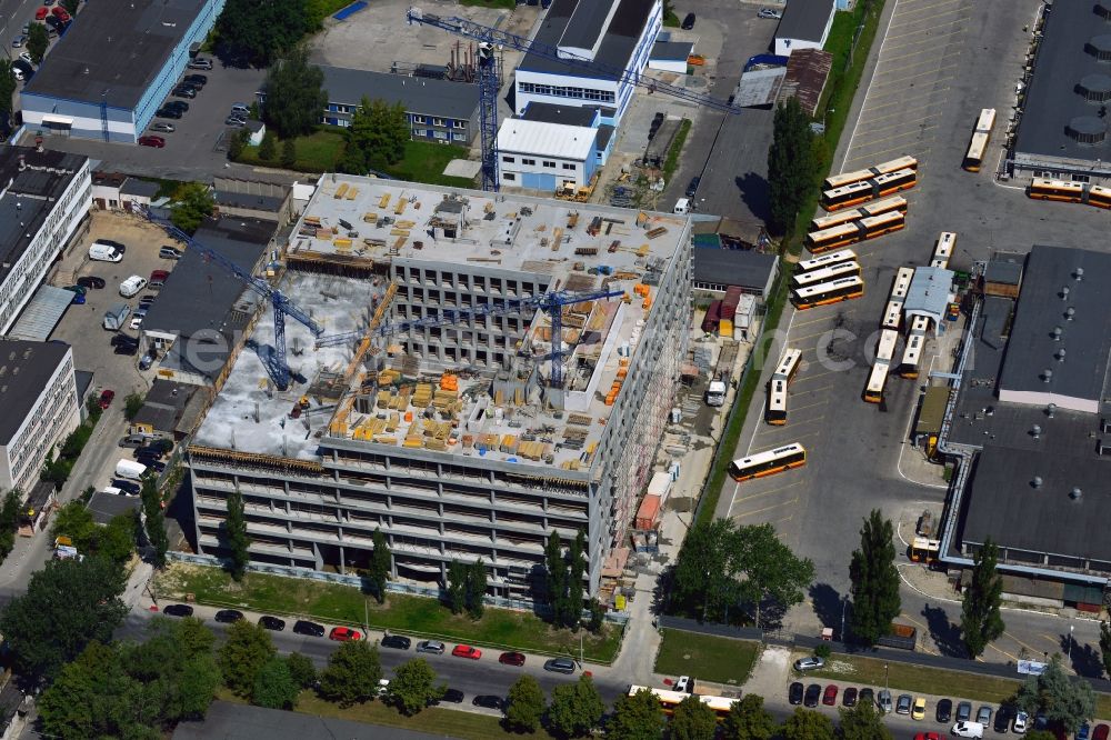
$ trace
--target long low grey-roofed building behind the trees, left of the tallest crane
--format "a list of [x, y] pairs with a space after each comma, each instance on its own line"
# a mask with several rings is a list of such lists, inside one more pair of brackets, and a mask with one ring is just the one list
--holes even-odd
[[368, 98], [389, 106], [400, 103], [417, 140], [470, 146], [478, 132], [477, 84], [343, 67], [321, 66], [320, 70], [328, 91], [322, 123], [351, 126], [351, 117]]

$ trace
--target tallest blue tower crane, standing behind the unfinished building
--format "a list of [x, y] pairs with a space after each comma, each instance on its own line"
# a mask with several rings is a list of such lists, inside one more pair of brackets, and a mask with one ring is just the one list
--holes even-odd
[[482, 189], [497, 191], [498, 183], [498, 73], [496, 62], [496, 49], [498, 47], [509, 47], [526, 53], [534, 53], [548, 59], [552, 59], [570, 69], [588, 69], [593, 72], [601, 72], [607, 77], [617, 80], [619, 83], [632, 83], [647, 87], [650, 92], [660, 92], [672, 98], [687, 100], [698, 106], [711, 108], [724, 113], [740, 113], [742, 108], [731, 102], [699, 94], [681, 88], [678, 84], [669, 84], [660, 80], [645, 77], [639, 70], [625, 69], [615, 64], [605, 64], [594, 61], [588, 57], [582, 57], [569, 51], [559, 49], [549, 43], [533, 41], [523, 36], [510, 33], [490, 26], [482, 26], [466, 18], [451, 16], [442, 18], [432, 13], [426, 13], [420, 8], [410, 8], [406, 12], [409, 23], [420, 23], [432, 26], [457, 36], [466, 36], [479, 42], [479, 133], [482, 144]]

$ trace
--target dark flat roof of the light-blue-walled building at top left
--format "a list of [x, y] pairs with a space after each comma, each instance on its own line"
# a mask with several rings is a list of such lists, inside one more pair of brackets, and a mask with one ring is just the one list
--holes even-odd
[[133, 109], [206, 0], [98, 0], [58, 40], [23, 94]]

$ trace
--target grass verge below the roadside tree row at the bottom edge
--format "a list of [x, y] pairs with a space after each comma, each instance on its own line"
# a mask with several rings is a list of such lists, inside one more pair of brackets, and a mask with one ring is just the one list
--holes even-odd
[[[217, 699], [237, 704], [247, 703], [223, 687], [217, 690]], [[463, 740], [521, 737], [514, 732], [506, 731], [497, 717], [474, 714], [454, 709], [439, 709], [436, 707], [426, 709], [413, 717], [406, 717], [397, 709], [388, 707], [381, 701], [368, 701], [364, 704], [356, 704], [349, 709], [341, 709], [337, 704], [324, 701], [310, 689], [301, 692], [301, 696], [297, 700], [297, 708], [293, 711], [302, 714], [312, 714], [313, 717], [333, 717], [352, 722], [397, 727], [414, 732], [462, 738]], [[534, 740], [549, 740], [552, 738], [543, 728], [528, 737]]]

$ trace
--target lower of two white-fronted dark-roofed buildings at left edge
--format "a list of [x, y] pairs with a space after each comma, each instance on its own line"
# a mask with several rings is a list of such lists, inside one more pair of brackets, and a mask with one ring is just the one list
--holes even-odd
[[30, 493], [80, 404], [69, 344], [0, 339], [0, 491]]

